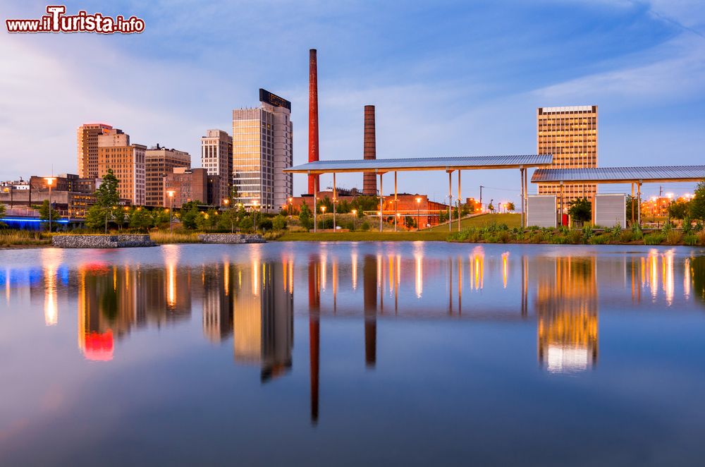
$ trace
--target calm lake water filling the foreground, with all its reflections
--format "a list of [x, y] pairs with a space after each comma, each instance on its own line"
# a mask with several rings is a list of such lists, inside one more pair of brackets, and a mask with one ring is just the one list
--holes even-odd
[[705, 250], [0, 251], [0, 464], [702, 465]]

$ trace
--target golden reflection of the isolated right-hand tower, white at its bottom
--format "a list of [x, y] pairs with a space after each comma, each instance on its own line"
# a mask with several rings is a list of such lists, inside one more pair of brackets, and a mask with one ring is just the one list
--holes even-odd
[[597, 362], [595, 258], [537, 257], [539, 363], [549, 372], [587, 370]]

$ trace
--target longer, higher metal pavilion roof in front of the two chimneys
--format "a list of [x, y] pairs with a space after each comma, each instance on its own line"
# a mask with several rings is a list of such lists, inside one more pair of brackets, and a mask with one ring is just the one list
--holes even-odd
[[408, 157], [403, 159], [353, 159], [308, 162], [288, 169], [292, 174], [333, 172], [391, 172], [412, 170], [521, 169], [551, 164], [551, 154], [516, 156]]

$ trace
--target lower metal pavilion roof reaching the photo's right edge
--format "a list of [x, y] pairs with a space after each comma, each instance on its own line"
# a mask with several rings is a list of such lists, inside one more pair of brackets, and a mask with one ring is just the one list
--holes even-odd
[[532, 183], [632, 183], [705, 180], [705, 165], [537, 169]]

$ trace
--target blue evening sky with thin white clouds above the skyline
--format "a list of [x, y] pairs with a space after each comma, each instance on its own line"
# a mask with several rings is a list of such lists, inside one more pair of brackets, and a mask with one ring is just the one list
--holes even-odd
[[[537, 107], [597, 105], [599, 166], [705, 163], [701, 0], [63, 3], [143, 18], [145, 32], [10, 35], [6, 18], [39, 18], [47, 4], [0, 0], [0, 180], [76, 173], [75, 130], [96, 121], [200, 166], [200, 137], [232, 133], [232, 110], [257, 107], [259, 87], [292, 102], [294, 164], [305, 163], [312, 48], [321, 159], [362, 158], [365, 104], [378, 158], [534, 154]], [[337, 181], [362, 188], [361, 174]], [[484, 199], [519, 200], [516, 170], [462, 183], [463, 197], [482, 184]], [[295, 175], [294, 193], [305, 184]], [[446, 190], [443, 172], [399, 175], [400, 192]]]

